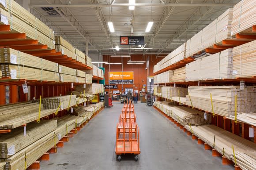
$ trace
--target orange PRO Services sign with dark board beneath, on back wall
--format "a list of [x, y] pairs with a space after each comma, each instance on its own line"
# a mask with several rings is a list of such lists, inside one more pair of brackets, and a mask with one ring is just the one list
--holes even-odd
[[109, 84], [133, 84], [133, 72], [109, 72]]

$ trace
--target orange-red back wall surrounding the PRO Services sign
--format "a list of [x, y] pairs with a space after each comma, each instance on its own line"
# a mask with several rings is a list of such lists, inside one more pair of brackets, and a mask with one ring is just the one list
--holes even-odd
[[[156, 58], [155, 55], [143, 55], [137, 54], [137, 55], [131, 55], [132, 61], [146, 61], [146, 57], [149, 57], [149, 75], [148, 76], [154, 76], [153, 74], [153, 68], [154, 65], [156, 65], [159, 61], [163, 59], [163, 57]], [[147, 70], [146, 69], [146, 63], [144, 64], [133, 64], [128, 65], [127, 61], [130, 59], [128, 57], [110, 57], [109, 55], [103, 56], [103, 61], [108, 61], [109, 63], [117, 63], [122, 62], [123, 59], [123, 71], [133, 71], [134, 72], [134, 84], [124, 84], [124, 90], [126, 88], [133, 88], [133, 90], [141, 90], [143, 88], [143, 84], [146, 84], [147, 86]], [[104, 64], [105, 67], [105, 84], [109, 84], [109, 65]], [[110, 71], [111, 72], [118, 72], [122, 71], [122, 65], [110, 65]], [[113, 90], [120, 90], [122, 91], [122, 85], [117, 84], [118, 89], [110, 89]], [[105, 89], [105, 91], [109, 91], [109, 89]]]

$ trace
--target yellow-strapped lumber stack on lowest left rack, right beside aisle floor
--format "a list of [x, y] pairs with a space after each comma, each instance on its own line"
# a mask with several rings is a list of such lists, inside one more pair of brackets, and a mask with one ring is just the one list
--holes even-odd
[[75, 120], [69, 120], [65, 116], [57, 120], [57, 128], [53, 132], [45, 135], [41, 139], [35, 141], [33, 144], [27, 146], [15, 155], [4, 159], [6, 166], [5, 170], [23, 170], [25, 167], [25, 152], [26, 152], [26, 165], [30, 166], [34, 161], [38, 160], [45, 152], [54, 147], [58, 141], [75, 128]]

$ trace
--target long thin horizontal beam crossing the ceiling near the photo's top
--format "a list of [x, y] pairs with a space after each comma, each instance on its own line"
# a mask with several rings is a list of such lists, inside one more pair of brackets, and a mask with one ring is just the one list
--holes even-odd
[[[30, 4], [30, 7], [128, 7], [131, 4]], [[222, 7], [233, 6], [234, 4], [133, 4], [136, 7]]]

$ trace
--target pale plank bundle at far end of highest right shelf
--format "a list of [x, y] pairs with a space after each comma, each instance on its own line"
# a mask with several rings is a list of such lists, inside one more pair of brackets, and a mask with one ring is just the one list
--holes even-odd
[[180, 47], [178, 47], [173, 52], [168, 54], [164, 59], [159, 61], [157, 65], [154, 66], [154, 73], [158, 72], [161, 69], [165, 69], [166, 67], [169, 67], [169, 65], [172, 65], [178, 61], [183, 60], [185, 57], [185, 49], [186, 49], [186, 43], [182, 44]]

